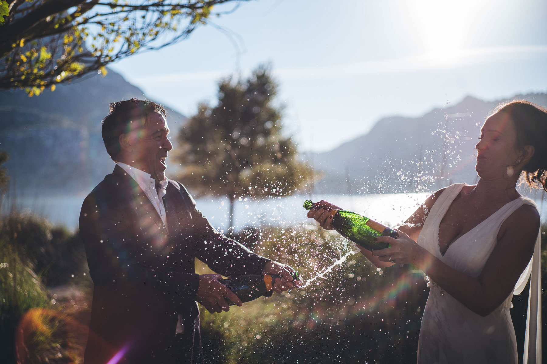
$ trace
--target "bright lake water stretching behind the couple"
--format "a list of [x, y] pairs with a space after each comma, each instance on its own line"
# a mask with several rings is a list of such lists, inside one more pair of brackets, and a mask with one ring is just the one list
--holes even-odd
[[[63, 224], [74, 229], [85, 194], [69, 195], [22, 195], [15, 204], [19, 210], [32, 211], [48, 218], [55, 224]], [[284, 198], [263, 200], [236, 200], [234, 205], [234, 228], [246, 226], [259, 228], [263, 225], [298, 226], [310, 223], [306, 210], [302, 207], [306, 199], [327, 200], [345, 210], [354, 211], [389, 226], [398, 225], [412, 214], [428, 196], [427, 193], [363, 194], [363, 195], [293, 195]], [[531, 196], [534, 198], [534, 196]], [[541, 194], [535, 196], [541, 207]], [[14, 201], [3, 201], [2, 211], [8, 211]], [[230, 202], [227, 198], [202, 198], [196, 201], [203, 215], [219, 230], [228, 228]], [[547, 204], [543, 204], [542, 220], [547, 218]]]

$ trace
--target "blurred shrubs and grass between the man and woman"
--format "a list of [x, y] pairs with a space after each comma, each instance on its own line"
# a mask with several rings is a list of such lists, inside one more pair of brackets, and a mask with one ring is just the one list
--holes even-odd
[[[547, 287], [545, 235], [542, 238], [542, 284]], [[313, 225], [304, 229], [265, 227], [260, 241], [246, 244], [261, 255], [291, 265], [304, 280], [351, 251], [335, 232]], [[207, 272], [203, 265], [197, 267], [200, 274]], [[527, 292], [528, 288], [514, 296], [511, 309], [519, 360]], [[363, 255], [350, 254], [306, 288], [233, 306], [220, 314], [202, 310], [205, 359], [230, 364], [415, 363], [427, 296], [421, 271], [397, 265], [380, 270]], [[544, 296], [543, 308], [545, 303]]]

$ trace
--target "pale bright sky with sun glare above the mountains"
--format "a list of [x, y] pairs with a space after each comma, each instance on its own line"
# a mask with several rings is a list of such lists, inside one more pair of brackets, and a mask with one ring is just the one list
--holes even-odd
[[301, 152], [324, 152], [381, 117], [547, 92], [545, 35], [545, 0], [258, 0], [110, 67], [191, 116], [220, 78], [269, 62], [284, 129]]

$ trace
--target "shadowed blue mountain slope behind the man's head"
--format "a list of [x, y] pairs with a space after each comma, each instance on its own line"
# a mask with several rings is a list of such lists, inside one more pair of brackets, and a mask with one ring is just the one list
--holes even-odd
[[[111, 102], [132, 97], [146, 98], [111, 69], [32, 98], [0, 91], [0, 150], [9, 152], [6, 165], [18, 191], [89, 192], [114, 168], [101, 138], [102, 118]], [[178, 129], [186, 117], [167, 111], [170, 128]]]

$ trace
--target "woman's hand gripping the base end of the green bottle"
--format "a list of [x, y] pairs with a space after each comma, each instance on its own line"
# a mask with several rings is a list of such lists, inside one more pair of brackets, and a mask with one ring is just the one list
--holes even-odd
[[426, 250], [420, 247], [403, 231], [395, 229], [399, 233], [399, 238], [391, 236], [379, 236], [374, 239], [376, 242], [387, 242], [391, 248], [374, 250], [373, 255], [378, 256], [380, 261], [389, 261], [397, 264], [414, 264], [420, 260], [420, 254]]

